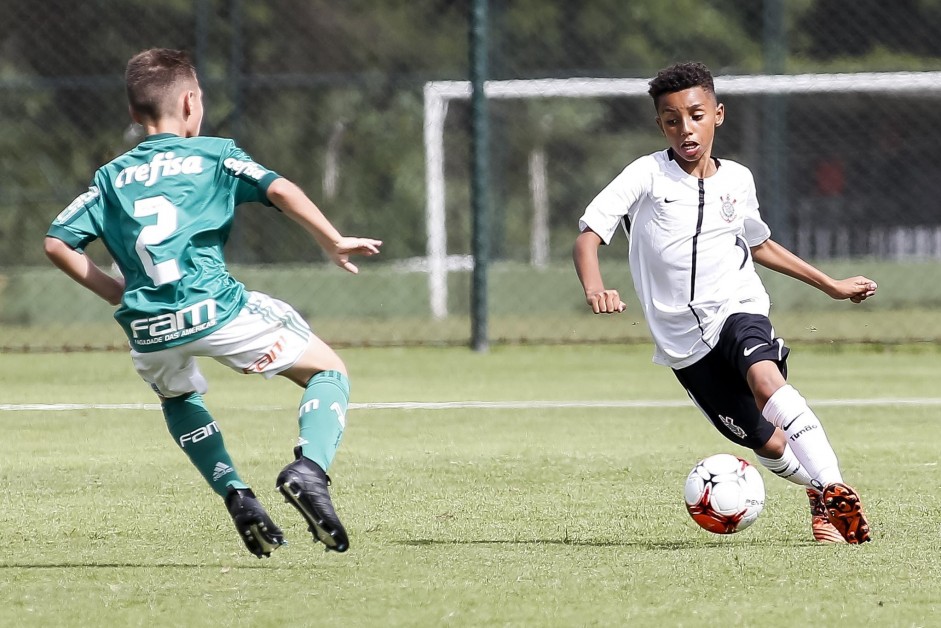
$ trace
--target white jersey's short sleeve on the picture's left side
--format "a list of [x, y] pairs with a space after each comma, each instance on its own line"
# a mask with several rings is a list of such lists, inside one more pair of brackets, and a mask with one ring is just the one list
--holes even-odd
[[579, 219], [579, 231], [591, 229], [610, 244], [624, 216], [650, 191], [652, 160], [648, 156], [632, 162], [601, 190]]

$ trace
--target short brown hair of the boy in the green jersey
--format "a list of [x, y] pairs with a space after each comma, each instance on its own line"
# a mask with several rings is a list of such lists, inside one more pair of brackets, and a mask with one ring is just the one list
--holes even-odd
[[124, 72], [131, 109], [148, 120], [170, 112], [180, 89], [196, 89], [196, 68], [182, 50], [151, 48], [127, 62]]

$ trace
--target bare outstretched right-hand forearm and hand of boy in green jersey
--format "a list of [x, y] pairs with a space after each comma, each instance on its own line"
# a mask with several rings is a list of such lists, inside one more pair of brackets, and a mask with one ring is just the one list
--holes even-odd
[[369, 256], [379, 253], [382, 240], [340, 235], [304, 191], [283, 177], [268, 187], [268, 200], [314, 236], [333, 263], [344, 270], [354, 274], [359, 272], [350, 261], [352, 254]]

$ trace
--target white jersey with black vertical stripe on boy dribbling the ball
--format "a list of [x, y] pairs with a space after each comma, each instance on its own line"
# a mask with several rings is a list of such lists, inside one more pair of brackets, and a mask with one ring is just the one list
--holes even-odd
[[653, 335], [654, 362], [695, 363], [738, 312], [768, 315], [770, 299], [750, 247], [771, 236], [751, 171], [723, 159], [698, 179], [664, 150], [628, 165], [588, 205], [579, 229], [610, 244], [627, 233], [634, 289]]

